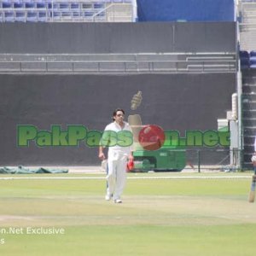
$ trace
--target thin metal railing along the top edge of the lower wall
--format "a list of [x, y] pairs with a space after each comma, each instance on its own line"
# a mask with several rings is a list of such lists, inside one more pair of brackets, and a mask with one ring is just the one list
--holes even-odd
[[236, 61], [0, 61], [0, 73], [235, 73]]

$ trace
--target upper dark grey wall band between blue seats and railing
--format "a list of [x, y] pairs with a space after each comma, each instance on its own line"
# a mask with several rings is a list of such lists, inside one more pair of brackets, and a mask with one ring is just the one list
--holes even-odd
[[235, 22], [2, 23], [0, 54], [235, 52]]

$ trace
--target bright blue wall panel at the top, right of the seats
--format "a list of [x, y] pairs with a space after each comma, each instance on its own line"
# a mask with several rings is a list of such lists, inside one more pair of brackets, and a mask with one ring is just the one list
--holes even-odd
[[234, 0], [137, 0], [139, 21], [232, 21]]

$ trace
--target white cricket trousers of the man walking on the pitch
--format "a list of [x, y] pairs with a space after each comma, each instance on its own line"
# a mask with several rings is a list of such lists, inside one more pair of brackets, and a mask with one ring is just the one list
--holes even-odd
[[113, 200], [121, 198], [126, 182], [127, 154], [122, 152], [108, 153], [108, 188], [107, 194], [113, 195]]

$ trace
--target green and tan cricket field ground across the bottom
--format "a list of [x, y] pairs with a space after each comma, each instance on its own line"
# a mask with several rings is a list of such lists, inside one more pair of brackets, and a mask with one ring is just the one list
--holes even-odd
[[[251, 256], [251, 176], [131, 173], [117, 205], [102, 174], [2, 175], [19, 179], [0, 179], [0, 254]], [[64, 234], [40, 234], [53, 229]]]

